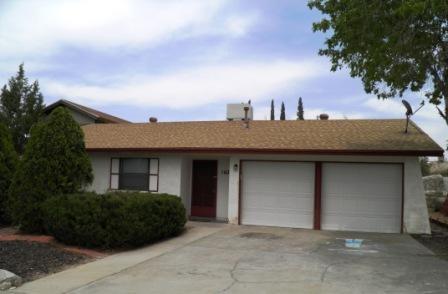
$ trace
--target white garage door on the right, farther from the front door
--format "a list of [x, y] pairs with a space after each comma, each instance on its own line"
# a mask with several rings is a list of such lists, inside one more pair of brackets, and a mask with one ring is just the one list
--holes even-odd
[[324, 163], [324, 230], [399, 233], [402, 171], [398, 164]]

